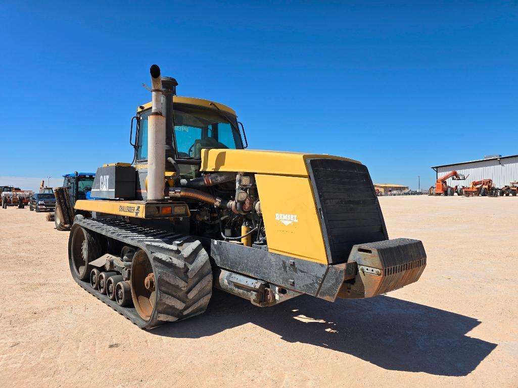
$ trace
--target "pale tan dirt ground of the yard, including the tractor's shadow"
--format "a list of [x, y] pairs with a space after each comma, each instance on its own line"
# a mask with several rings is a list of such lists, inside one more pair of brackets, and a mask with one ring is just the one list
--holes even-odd
[[382, 197], [389, 236], [423, 241], [420, 281], [370, 300], [206, 314], [143, 331], [82, 290], [68, 232], [0, 210], [3, 386], [518, 386], [518, 199]]

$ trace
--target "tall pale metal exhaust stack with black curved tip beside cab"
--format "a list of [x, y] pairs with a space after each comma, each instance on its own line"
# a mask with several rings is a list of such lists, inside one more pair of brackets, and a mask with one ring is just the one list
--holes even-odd
[[152, 109], [148, 123], [148, 201], [163, 201], [165, 190], [165, 117], [162, 114], [160, 67], [152, 65]]

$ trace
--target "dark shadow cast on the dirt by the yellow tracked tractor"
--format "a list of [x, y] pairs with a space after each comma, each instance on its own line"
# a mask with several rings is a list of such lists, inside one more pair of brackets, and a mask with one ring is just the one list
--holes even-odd
[[287, 342], [351, 354], [385, 369], [440, 376], [468, 375], [496, 347], [466, 335], [481, 323], [477, 319], [389, 296], [331, 304], [303, 295], [260, 308], [214, 290], [205, 314], [151, 333], [199, 338], [246, 323]]

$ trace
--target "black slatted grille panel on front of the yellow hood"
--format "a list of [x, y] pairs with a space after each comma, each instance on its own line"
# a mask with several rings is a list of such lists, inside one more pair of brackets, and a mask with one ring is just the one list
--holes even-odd
[[310, 159], [308, 170], [329, 263], [347, 261], [355, 244], [388, 240], [367, 167], [347, 160]]

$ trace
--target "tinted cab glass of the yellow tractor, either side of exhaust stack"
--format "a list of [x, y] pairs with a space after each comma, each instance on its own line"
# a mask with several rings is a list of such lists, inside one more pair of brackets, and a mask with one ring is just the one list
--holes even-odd
[[[148, 159], [150, 114], [151, 110], [140, 115], [137, 160]], [[176, 104], [173, 117], [180, 159], [199, 159], [203, 148], [242, 148], [236, 117], [231, 114]]]

